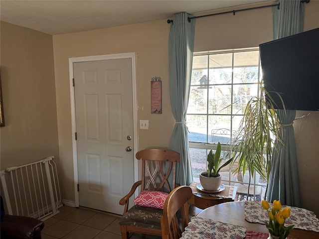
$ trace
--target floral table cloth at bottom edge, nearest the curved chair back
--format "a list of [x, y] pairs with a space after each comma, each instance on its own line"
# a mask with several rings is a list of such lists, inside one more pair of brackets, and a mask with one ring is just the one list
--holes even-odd
[[192, 217], [180, 239], [244, 239], [246, 228], [242, 226]]

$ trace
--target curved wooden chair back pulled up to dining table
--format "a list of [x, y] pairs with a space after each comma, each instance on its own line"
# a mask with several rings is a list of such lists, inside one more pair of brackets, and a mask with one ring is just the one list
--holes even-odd
[[181, 237], [188, 225], [188, 200], [191, 196], [192, 191], [188, 186], [179, 186], [169, 193], [164, 204], [163, 216], [160, 218], [162, 239]]

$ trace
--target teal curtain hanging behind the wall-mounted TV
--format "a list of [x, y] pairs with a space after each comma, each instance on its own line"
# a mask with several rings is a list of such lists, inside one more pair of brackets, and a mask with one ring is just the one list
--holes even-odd
[[[273, 7], [274, 39], [303, 32], [303, 3], [300, 0], [280, 0], [279, 3], [280, 9]], [[274, 145], [268, 198], [270, 202], [280, 200], [283, 205], [300, 207], [300, 184], [293, 127], [296, 111], [277, 111], [282, 123], [280, 135], [284, 144], [277, 141]]]

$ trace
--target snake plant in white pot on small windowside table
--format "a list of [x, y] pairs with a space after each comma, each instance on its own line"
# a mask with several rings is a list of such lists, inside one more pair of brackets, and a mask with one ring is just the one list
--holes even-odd
[[220, 157], [221, 145], [220, 142], [217, 144], [215, 153], [212, 150], [207, 155], [207, 171], [201, 172], [199, 175], [199, 181], [204, 190], [216, 191], [221, 184], [221, 176], [219, 174], [220, 169], [231, 163], [233, 158], [228, 159], [224, 164], [221, 165], [223, 157]]

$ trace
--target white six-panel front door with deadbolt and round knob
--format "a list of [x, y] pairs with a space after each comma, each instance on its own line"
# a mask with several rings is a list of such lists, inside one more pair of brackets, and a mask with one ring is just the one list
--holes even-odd
[[134, 183], [132, 59], [74, 62], [73, 75], [79, 206], [122, 214]]

